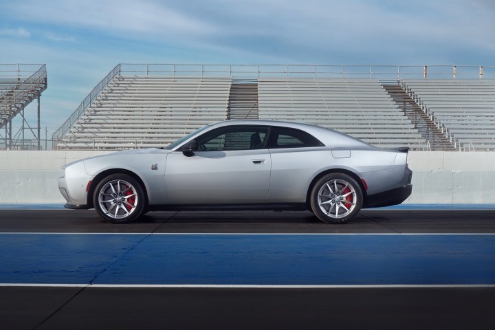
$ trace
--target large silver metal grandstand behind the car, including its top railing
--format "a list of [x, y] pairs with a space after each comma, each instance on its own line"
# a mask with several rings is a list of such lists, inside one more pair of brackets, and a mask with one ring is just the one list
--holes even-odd
[[[495, 119], [489, 114], [495, 113], [493, 83], [481, 77], [436, 79], [427, 76], [426, 67], [405, 71], [309, 65], [117, 65], [54, 133], [53, 145], [100, 150], [160, 147], [210, 122], [250, 118], [319, 124], [387, 148], [495, 148]], [[421, 79], [416, 78], [419, 74]], [[476, 82], [480, 89], [472, 91]], [[452, 92], [450, 101], [440, 98], [449, 95], [441, 86]], [[458, 116], [443, 116], [439, 109], [448, 113], [453, 102], [463, 102]]]

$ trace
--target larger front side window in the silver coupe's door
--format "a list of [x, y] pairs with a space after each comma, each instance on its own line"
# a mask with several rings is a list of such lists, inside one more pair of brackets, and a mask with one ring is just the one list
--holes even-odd
[[263, 126], [227, 126], [197, 138], [200, 151], [232, 151], [265, 148], [268, 128]]

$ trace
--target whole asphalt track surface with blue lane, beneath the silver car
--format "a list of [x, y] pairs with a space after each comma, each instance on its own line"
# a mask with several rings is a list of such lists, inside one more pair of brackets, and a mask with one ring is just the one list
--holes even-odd
[[495, 210], [111, 225], [94, 210], [2, 209], [0, 329], [493, 329], [494, 234]]

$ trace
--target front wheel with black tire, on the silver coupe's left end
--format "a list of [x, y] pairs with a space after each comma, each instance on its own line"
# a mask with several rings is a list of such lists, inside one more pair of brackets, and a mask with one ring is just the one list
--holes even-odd
[[126, 174], [104, 177], [94, 190], [93, 205], [102, 219], [130, 223], [142, 215], [146, 199], [139, 181]]

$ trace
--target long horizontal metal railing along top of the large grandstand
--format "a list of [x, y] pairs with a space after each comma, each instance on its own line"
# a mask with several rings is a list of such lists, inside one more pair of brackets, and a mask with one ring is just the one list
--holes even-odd
[[218, 76], [231, 78], [495, 79], [495, 66], [474, 65], [214, 65], [120, 64], [122, 76]]

